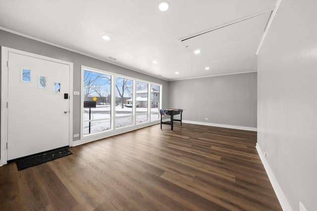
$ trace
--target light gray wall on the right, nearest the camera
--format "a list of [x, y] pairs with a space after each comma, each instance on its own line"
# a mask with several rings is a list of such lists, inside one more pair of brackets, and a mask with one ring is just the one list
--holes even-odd
[[258, 145], [291, 209], [317, 209], [317, 1], [283, 0], [258, 56]]

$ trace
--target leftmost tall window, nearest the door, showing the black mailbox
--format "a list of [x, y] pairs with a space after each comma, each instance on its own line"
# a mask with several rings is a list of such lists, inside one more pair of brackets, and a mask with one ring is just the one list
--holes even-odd
[[83, 134], [111, 129], [111, 76], [84, 70]]

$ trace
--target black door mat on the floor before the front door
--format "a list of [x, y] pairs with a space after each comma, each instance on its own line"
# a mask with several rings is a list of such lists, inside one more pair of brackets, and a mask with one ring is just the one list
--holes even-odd
[[34, 167], [40, 164], [44, 164], [49, 161], [53, 161], [58, 158], [71, 155], [73, 153], [69, 152], [67, 149], [59, 149], [52, 152], [44, 153], [41, 155], [33, 156], [16, 162], [18, 170], [27, 169], [29, 167]]

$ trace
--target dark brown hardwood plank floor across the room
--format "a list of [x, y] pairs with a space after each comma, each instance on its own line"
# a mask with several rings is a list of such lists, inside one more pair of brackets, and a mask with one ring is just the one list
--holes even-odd
[[175, 123], [71, 147], [17, 171], [0, 167], [0, 210], [281, 211], [257, 132]]

